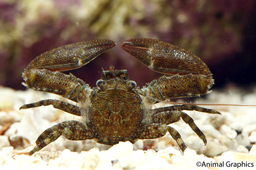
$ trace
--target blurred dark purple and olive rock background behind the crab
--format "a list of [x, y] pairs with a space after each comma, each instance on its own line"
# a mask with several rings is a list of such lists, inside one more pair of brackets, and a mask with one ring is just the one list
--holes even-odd
[[142, 87], [161, 75], [121, 49], [132, 38], [154, 38], [200, 57], [214, 75], [214, 88], [255, 85], [255, 0], [0, 0], [0, 85], [26, 89], [22, 72], [52, 48], [111, 39], [115, 48], [71, 71], [92, 87], [102, 68], [127, 69]]

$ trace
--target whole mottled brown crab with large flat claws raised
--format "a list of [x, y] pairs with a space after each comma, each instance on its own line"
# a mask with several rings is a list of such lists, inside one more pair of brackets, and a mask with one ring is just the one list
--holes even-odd
[[172, 98], [194, 97], [209, 93], [214, 84], [207, 65], [194, 54], [178, 46], [146, 38], [126, 40], [122, 48], [151, 70], [164, 76], [143, 88], [129, 80], [127, 70], [110, 67], [103, 70], [97, 87], [91, 88], [74, 75], [60, 71], [86, 65], [104, 51], [114, 47], [111, 40], [90, 40], [57, 47], [32, 60], [23, 72], [23, 83], [37, 91], [55, 93], [77, 104], [60, 100], [41, 100], [20, 109], [53, 105], [85, 121], [68, 120], [42, 132], [29, 155], [46, 147], [63, 135], [69, 140], [95, 139], [114, 145], [119, 141], [134, 143], [137, 139], [153, 139], [167, 132], [176, 140], [181, 152], [186, 145], [181, 135], [169, 124], [181, 118], [206, 144], [206, 137], [183, 110], [220, 114], [197, 105], [174, 105], [152, 109], [155, 103]]

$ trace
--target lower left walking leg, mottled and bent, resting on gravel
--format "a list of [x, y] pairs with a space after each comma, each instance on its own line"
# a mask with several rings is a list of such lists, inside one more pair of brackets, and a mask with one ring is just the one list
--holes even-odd
[[87, 129], [86, 125], [75, 120], [62, 122], [42, 132], [36, 140], [35, 148], [29, 152], [29, 155], [46, 147], [60, 135], [65, 136], [65, 138], [69, 140], [86, 140], [93, 138], [93, 134]]

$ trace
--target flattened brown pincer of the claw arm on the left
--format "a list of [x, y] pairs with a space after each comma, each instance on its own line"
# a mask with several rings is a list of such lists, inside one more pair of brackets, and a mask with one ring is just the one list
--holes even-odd
[[37, 56], [28, 65], [26, 71], [36, 68], [52, 71], [80, 68], [115, 45], [114, 41], [101, 39], [60, 46]]

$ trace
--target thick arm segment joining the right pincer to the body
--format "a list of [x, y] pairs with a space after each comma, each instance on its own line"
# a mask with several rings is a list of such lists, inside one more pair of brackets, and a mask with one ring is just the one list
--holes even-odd
[[[164, 101], [166, 99], [195, 97], [209, 93], [208, 89], [212, 86], [212, 80], [204, 75], [174, 75], [162, 76], [157, 80], [148, 83], [142, 88], [143, 96], [151, 96], [152, 98]], [[148, 99], [150, 103], [156, 101]]]

